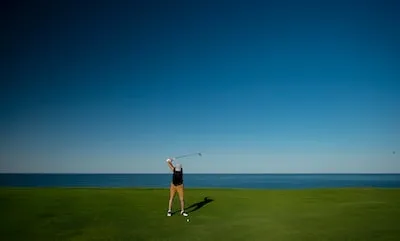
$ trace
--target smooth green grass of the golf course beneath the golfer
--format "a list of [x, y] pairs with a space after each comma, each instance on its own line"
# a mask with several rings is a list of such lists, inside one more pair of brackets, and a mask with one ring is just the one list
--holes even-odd
[[168, 195], [1, 188], [0, 240], [400, 240], [400, 189], [187, 189], [190, 222]]

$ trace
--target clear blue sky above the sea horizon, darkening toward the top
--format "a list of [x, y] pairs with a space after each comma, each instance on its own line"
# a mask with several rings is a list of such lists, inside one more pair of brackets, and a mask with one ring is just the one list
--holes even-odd
[[3, 9], [0, 172], [400, 172], [396, 1], [50, 2]]

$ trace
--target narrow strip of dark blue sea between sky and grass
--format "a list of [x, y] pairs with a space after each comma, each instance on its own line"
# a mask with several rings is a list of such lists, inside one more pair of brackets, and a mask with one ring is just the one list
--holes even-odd
[[[400, 188], [400, 174], [186, 174], [186, 188]], [[167, 188], [171, 174], [0, 174], [2, 187]]]

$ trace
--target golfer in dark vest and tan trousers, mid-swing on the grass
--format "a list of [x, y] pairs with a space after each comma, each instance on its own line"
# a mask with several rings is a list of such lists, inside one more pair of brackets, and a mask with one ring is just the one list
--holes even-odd
[[183, 198], [183, 169], [181, 164], [177, 164], [176, 166], [172, 165], [173, 159], [168, 158], [167, 160], [168, 166], [172, 171], [172, 182], [169, 189], [169, 205], [168, 205], [168, 213], [167, 216], [172, 216], [172, 202], [174, 200], [175, 194], [178, 193], [179, 200], [181, 202], [181, 215], [187, 217], [188, 214], [185, 212], [185, 202]]

